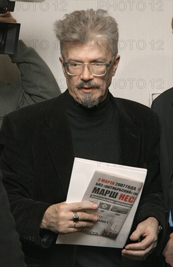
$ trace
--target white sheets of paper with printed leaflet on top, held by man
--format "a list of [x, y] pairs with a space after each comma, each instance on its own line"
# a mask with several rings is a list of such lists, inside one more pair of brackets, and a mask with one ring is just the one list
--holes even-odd
[[[144, 168], [75, 158], [66, 202], [97, 201], [99, 208], [95, 213], [98, 222], [92, 228], [86, 228], [84, 231], [87, 233], [58, 234], [57, 244], [123, 248], [138, 207], [146, 172]], [[104, 178], [105, 175], [107, 178]], [[101, 180], [96, 181], [99, 178]]]

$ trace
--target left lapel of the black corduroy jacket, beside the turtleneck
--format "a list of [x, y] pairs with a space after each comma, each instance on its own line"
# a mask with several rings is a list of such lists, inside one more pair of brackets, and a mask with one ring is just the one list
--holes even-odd
[[59, 183], [63, 189], [62, 193], [66, 198], [74, 155], [64, 94], [55, 99], [46, 121], [49, 128], [44, 132], [44, 137], [58, 173]]

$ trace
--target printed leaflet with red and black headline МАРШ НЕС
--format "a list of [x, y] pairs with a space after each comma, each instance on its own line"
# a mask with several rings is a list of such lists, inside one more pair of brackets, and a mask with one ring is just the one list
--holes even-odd
[[[87, 187], [82, 201], [98, 204], [98, 221], [92, 228], [88, 227], [81, 233], [109, 236], [116, 238], [143, 183], [114, 175], [95, 171]], [[93, 213], [92, 210], [88, 211]]]

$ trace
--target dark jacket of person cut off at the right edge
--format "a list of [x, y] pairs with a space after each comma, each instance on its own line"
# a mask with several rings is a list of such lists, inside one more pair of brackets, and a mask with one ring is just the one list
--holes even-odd
[[173, 88], [152, 103], [160, 123], [160, 174], [166, 209], [173, 218]]

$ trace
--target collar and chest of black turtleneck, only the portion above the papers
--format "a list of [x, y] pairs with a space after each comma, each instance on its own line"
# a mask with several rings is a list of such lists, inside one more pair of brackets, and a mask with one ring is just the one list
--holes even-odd
[[77, 103], [68, 91], [66, 101], [74, 156], [117, 163], [115, 107], [110, 100], [110, 93], [98, 106], [91, 109]]

